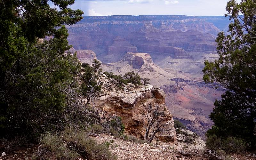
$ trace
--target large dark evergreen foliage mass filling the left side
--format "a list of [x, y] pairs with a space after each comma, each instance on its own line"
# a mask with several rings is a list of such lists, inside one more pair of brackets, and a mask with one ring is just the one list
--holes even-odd
[[[0, 136], [38, 138], [48, 129], [64, 129], [78, 88], [80, 70], [70, 49], [68, 30], [82, 19], [74, 0], [0, 2]], [[61, 27], [60, 27], [61, 26]], [[49, 41], [39, 38], [53, 36]], [[71, 105], [72, 104], [72, 105]], [[56, 119], [58, 119], [56, 121]]]

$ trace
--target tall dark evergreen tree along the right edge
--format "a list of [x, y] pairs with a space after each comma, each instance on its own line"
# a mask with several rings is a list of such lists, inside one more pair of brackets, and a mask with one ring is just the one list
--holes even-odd
[[[214, 122], [207, 131], [208, 140], [220, 137], [221, 147], [245, 141], [256, 147], [256, 1], [235, 0], [227, 3], [230, 17], [229, 35], [220, 32], [216, 39], [220, 55], [215, 62], [205, 61], [204, 81], [224, 87], [222, 100], [215, 101], [210, 118]], [[232, 140], [231, 140], [232, 139]], [[208, 143], [210, 144], [210, 142]], [[243, 143], [240, 143], [243, 144]], [[221, 147], [222, 149], [225, 149]], [[242, 147], [243, 148], [243, 147]]]

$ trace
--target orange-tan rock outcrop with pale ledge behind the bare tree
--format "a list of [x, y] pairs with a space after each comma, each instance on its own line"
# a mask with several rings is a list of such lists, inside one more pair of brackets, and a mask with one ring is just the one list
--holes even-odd
[[[157, 133], [157, 138], [165, 142], [177, 142], [176, 131], [172, 114], [165, 106], [165, 93], [159, 89], [145, 86], [133, 88], [133, 91], [108, 91], [111, 82], [107, 77], [102, 77], [105, 83], [102, 92], [109, 92], [109, 95], [102, 94], [99, 98], [93, 100], [96, 108], [104, 110], [104, 116], [119, 116], [125, 125], [125, 132], [138, 138], [143, 138], [146, 132], [148, 104], [159, 106], [159, 112], [163, 112], [162, 124], [165, 130]], [[106, 83], [108, 82], [108, 83]]]

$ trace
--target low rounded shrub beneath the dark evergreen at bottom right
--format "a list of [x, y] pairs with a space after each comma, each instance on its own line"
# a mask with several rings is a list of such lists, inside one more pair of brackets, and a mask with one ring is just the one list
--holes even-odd
[[246, 148], [246, 143], [239, 138], [228, 137], [222, 140], [221, 148], [226, 151], [226, 153], [240, 153]]

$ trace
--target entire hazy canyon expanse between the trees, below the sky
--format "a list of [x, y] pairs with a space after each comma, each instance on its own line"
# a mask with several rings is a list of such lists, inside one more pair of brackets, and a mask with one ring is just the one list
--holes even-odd
[[105, 71], [149, 78], [166, 92], [174, 118], [204, 138], [223, 91], [204, 84], [202, 69], [218, 58], [215, 39], [228, 24], [225, 16], [90, 16], [67, 28], [82, 62], [97, 58]]

